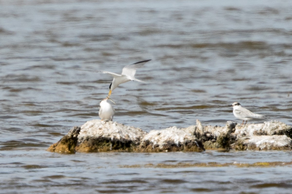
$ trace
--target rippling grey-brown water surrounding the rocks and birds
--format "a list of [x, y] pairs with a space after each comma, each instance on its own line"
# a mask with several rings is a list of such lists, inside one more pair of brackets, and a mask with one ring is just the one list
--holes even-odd
[[[290, 151], [46, 152], [98, 118], [111, 77], [114, 121], [145, 131], [237, 121], [240, 102], [292, 124], [290, 1], [0, 1], [0, 179], [3, 193], [290, 193]], [[263, 122], [255, 120], [252, 122]], [[153, 164], [150, 165], [150, 164]], [[132, 165], [127, 167], [125, 165]]]

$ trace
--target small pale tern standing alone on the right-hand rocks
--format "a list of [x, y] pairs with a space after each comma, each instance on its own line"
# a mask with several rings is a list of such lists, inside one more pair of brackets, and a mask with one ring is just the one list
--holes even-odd
[[247, 110], [246, 108], [241, 107], [241, 104], [239, 104], [238, 102], [234, 102], [232, 104], [233, 106], [233, 114], [236, 118], [242, 120], [242, 124], [244, 121], [245, 124], [247, 123], [248, 120], [251, 119], [260, 119], [260, 118], [266, 118], [265, 115], [259, 115], [259, 114], [255, 114], [252, 113], [251, 111]]

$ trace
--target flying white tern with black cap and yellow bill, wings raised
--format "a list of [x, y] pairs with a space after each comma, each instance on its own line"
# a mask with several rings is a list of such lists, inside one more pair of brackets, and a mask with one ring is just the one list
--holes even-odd
[[[121, 83], [125, 83], [127, 81], [141, 81], [136, 79], [135, 73], [136, 73], [136, 69], [142, 67], [145, 62], [150, 61], [149, 60], [143, 60], [143, 61], [139, 61], [137, 63], [133, 63], [131, 65], [126, 65], [123, 68], [122, 74], [116, 74], [116, 73], [112, 73], [112, 72], [107, 72], [107, 71], [102, 71], [102, 73], [107, 73], [110, 74], [114, 77], [114, 79], [112, 80], [112, 83], [109, 85], [109, 94], [108, 97], [112, 94], [112, 90], [114, 90], [114, 88], [117, 88]], [[144, 81], [141, 81], [144, 82]]]

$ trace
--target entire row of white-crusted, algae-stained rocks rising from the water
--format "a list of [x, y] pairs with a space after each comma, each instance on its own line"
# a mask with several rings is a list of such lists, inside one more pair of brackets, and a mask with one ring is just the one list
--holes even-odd
[[205, 149], [292, 149], [292, 127], [279, 121], [260, 124], [237, 124], [227, 121], [224, 127], [197, 125], [168, 127], [149, 133], [112, 121], [91, 120], [73, 127], [48, 151], [74, 152], [164, 152]]

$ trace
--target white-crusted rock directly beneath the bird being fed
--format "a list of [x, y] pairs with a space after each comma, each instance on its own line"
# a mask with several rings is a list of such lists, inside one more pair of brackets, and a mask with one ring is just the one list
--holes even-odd
[[112, 121], [90, 120], [81, 126], [78, 152], [133, 151], [147, 132]]

